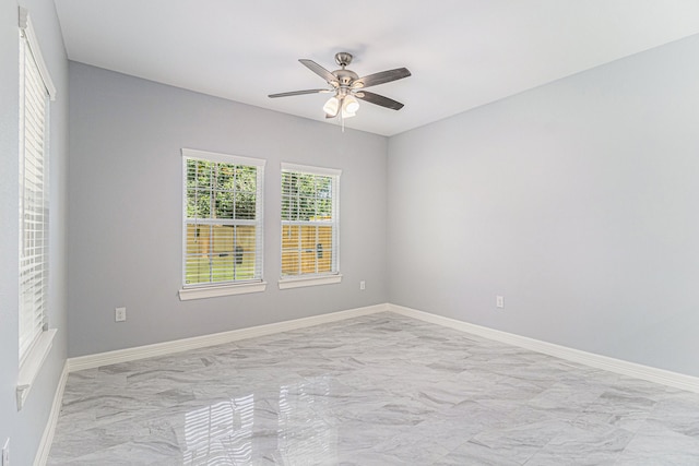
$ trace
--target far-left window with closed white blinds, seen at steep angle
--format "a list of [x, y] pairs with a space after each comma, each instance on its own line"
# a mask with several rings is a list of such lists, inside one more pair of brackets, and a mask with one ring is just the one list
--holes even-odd
[[[48, 327], [49, 115], [56, 86], [28, 11], [20, 34], [20, 307], [17, 410], [22, 409], [57, 333]], [[27, 225], [32, 225], [31, 228]]]

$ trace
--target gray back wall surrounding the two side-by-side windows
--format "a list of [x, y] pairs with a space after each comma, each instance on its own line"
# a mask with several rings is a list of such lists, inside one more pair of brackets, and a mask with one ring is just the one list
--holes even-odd
[[[386, 138], [81, 63], [70, 92], [71, 357], [387, 301]], [[181, 147], [268, 160], [266, 291], [179, 300]], [[342, 284], [279, 289], [281, 162], [343, 170]]]

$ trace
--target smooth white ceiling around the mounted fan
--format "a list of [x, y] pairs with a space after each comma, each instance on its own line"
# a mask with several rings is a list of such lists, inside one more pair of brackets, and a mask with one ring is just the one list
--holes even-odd
[[[350, 128], [393, 135], [699, 34], [699, 0], [55, 0], [68, 57], [108, 70], [325, 121], [329, 70], [413, 75], [370, 91]], [[696, 59], [694, 57], [692, 59]], [[331, 123], [337, 124], [336, 120]]]

